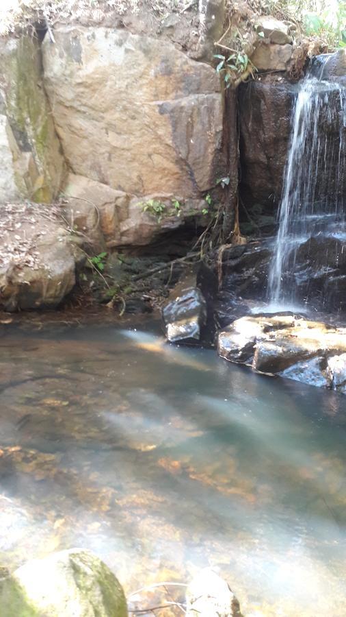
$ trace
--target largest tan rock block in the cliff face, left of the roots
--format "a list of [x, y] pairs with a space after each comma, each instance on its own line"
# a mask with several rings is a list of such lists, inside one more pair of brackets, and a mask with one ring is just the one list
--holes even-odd
[[46, 91], [80, 176], [135, 195], [199, 197], [215, 184], [219, 78], [171, 43], [126, 30], [61, 27], [43, 43]]

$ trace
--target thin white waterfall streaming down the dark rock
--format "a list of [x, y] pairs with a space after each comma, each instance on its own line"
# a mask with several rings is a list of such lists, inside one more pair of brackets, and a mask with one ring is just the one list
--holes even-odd
[[273, 306], [297, 302], [297, 250], [312, 236], [345, 235], [345, 88], [312, 72], [300, 84], [292, 114], [279, 227], [269, 269]]

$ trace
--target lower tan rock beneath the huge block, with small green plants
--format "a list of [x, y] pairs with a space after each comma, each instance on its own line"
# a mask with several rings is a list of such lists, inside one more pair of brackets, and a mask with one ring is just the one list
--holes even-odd
[[[140, 199], [73, 173], [68, 176], [64, 195], [68, 198], [66, 219], [94, 252], [107, 247], [146, 245], [188, 219], [200, 219], [201, 224], [205, 220], [204, 199], [176, 199], [172, 193]], [[155, 213], [155, 205], [161, 213]]]

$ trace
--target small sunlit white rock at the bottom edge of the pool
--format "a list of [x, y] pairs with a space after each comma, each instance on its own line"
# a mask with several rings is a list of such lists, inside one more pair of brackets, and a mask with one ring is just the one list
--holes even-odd
[[186, 592], [186, 617], [242, 617], [235, 594], [211, 568], [204, 568]]

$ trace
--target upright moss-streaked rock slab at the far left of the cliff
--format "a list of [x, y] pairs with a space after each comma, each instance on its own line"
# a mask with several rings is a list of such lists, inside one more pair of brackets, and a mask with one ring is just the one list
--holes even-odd
[[0, 203], [56, 197], [64, 158], [33, 36], [0, 38], [0, 152]]

